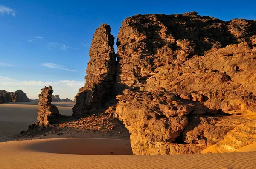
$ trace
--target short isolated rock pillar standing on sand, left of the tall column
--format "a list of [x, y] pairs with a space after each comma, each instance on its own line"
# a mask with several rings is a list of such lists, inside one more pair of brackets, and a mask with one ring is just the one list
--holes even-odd
[[51, 124], [55, 124], [57, 117], [60, 115], [58, 108], [52, 104], [52, 87], [44, 87], [41, 89], [41, 93], [38, 95], [39, 103], [38, 103], [38, 121], [39, 126], [43, 129]]

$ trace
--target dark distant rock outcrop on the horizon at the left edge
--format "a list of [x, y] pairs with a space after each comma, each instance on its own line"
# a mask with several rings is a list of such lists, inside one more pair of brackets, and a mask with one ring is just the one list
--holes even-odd
[[22, 90], [17, 90], [15, 92], [0, 90], [0, 103], [8, 102], [29, 102], [29, 98]]

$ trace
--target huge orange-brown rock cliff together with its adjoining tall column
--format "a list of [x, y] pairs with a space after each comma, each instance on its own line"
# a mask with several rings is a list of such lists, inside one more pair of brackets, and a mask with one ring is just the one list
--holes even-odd
[[134, 154], [235, 152], [256, 142], [255, 20], [138, 14], [123, 21], [116, 55], [113, 40], [108, 25], [96, 30], [74, 116], [116, 96], [106, 112], [124, 122]]

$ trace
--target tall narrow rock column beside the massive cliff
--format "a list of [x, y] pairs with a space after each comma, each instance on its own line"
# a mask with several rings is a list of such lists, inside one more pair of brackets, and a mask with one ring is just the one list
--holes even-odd
[[89, 51], [90, 61], [86, 69], [86, 83], [75, 97], [73, 116], [93, 113], [114, 97], [116, 54], [114, 37], [110, 31], [110, 26], [104, 23], [93, 35]]

